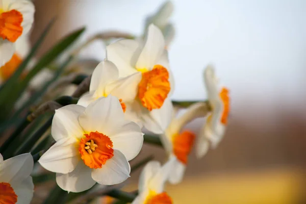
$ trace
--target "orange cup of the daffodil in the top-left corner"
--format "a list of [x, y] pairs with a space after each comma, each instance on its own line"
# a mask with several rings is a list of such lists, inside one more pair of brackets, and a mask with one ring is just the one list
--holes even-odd
[[22, 14], [17, 10], [11, 10], [0, 14], [0, 37], [15, 42], [22, 34]]

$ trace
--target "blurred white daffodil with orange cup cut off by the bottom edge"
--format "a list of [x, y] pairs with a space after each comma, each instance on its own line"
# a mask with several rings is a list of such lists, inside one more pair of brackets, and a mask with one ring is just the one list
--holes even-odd
[[132, 204], [172, 203], [172, 198], [164, 192], [172, 162], [173, 160], [169, 160], [163, 166], [157, 161], [146, 164], [139, 177], [139, 195]]

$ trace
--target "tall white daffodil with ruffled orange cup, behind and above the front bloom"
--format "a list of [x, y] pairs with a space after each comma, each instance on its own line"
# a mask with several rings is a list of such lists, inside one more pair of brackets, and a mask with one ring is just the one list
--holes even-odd
[[174, 90], [164, 47], [163, 34], [153, 24], [144, 43], [124, 39], [107, 46], [107, 59], [117, 66], [119, 77], [142, 73], [137, 98], [130, 105], [131, 112], [141, 119], [148, 131], [156, 134], [162, 134], [169, 124], [165, 118], [171, 114], [170, 96]]

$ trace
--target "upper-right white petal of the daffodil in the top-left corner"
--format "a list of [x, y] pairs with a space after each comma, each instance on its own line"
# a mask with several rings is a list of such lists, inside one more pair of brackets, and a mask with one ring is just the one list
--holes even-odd
[[13, 9], [19, 11], [22, 14], [22, 35], [27, 34], [30, 31], [34, 21], [35, 7], [33, 3], [28, 0], [15, 1], [9, 6], [9, 10]]

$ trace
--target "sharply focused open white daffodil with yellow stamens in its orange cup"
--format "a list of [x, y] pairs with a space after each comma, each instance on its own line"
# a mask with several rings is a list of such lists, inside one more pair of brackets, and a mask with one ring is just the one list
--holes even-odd
[[125, 181], [131, 171], [128, 161], [143, 143], [140, 127], [124, 119], [119, 99], [111, 95], [86, 108], [68, 105], [56, 110], [51, 131], [56, 143], [39, 163], [57, 172], [57, 184], [71, 192], [85, 191], [96, 182]]

